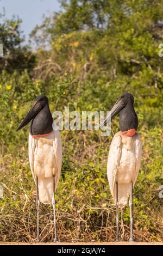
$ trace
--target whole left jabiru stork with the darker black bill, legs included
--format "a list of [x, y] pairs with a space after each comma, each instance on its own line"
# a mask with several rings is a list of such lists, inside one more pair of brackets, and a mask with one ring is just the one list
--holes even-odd
[[18, 126], [22, 129], [32, 120], [29, 131], [28, 153], [30, 169], [36, 184], [37, 242], [39, 237], [39, 205], [52, 203], [54, 214], [54, 242], [57, 242], [55, 191], [59, 183], [62, 147], [59, 130], [53, 130], [53, 118], [46, 96], [38, 96]]

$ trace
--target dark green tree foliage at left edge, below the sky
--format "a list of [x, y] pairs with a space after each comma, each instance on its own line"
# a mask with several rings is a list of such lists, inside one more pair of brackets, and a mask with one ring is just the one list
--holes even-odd
[[3, 45], [4, 58], [1, 58], [0, 72], [14, 70], [22, 72], [24, 69], [31, 71], [35, 65], [35, 56], [29, 51], [28, 46], [22, 46], [24, 37], [20, 30], [21, 20], [12, 17], [5, 19], [0, 14], [0, 43]]

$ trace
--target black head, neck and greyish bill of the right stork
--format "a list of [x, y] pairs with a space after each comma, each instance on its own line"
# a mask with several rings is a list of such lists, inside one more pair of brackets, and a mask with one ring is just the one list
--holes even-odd
[[130, 129], [137, 130], [138, 119], [134, 109], [134, 97], [130, 93], [123, 93], [111, 108], [110, 117], [106, 118], [101, 125], [101, 128], [111, 118], [114, 119], [118, 113], [120, 114], [120, 129], [122, 132]]

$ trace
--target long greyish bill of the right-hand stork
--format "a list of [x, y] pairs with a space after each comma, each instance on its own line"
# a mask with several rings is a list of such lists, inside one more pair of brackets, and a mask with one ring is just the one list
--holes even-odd
[[123, 108], [124, 106], [125, 106], [125, 105], [124, 105], [124, 102], [123, 102], [121, 99], [117, 100], [117, 102], [115, 103], [115, 105], [111, 108], [109, 117], [107, 117], [107, 118], [103, 121], [103, 123], [101, 124], [101, 126], [100, 126], [99, 128], [102, 129], [104, 125], [106, 125], [110, 120], [112, 120], [113, 118], [115, 118], [116, 115], [117, 115], [118, 113], [120, 113], [120, 111], [122, 110], [122, 108]]

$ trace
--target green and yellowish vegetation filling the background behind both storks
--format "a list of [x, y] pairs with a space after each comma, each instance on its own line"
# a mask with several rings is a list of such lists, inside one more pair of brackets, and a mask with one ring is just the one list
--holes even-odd
[[[15, 132], [37, 95], [51, 111], [110, 110], [122, 92], [135, 97], [143, 144], [134, 188], [134, 236], [163, 241], [163, 43], [162, 0], [60, 0], [22, 44], [21, 20], [1, 15], [0, 42], [0, 240], [35, 241], [36, 188], [28, 161], [28, 127]], [[60, 241], [114, 241], [115, 205], [106, 178], [110, 137], [97, 131], [62, 131], [63, 162], [57, 190]], [[121, 239], [129, 239], [129, 207]], [[41, 241], [53, 241], [52, 206], [40, 207]]]

